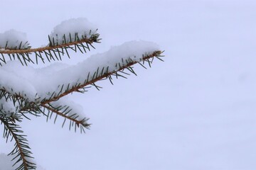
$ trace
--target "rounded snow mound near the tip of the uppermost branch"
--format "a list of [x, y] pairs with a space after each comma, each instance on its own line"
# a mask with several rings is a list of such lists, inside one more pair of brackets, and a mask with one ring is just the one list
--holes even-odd
[[[63, 21], [58, 26], [55, 26], [50, 33], [50, 42], [53, 45], [60, 45], [66, 42], [78, 41], [83, 38], [90, 38], [90, 35], [97, 32], [96, 26], [90, 23], [86, 18], [72, 18]], [[65, 38], [64, 38], [65, 35]]]

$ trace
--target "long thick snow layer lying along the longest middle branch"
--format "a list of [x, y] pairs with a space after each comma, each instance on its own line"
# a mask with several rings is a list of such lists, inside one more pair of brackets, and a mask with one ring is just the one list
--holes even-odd
[[29, 101], [40, 101], [49, 98], [53, 92], [64, 92], [68, 86], [70, 89], [76, 84], [83, 84], [87, 78], [90, 81], [97, 69], [99, 72], [103, 68], [104, 72], [113, 72], [119, 69], [119, 64], [127, 64], [126, 60], [140, 61], [143, 55], [156, 50], [159, 47], [154, 42], [140, 40], [112, 47], [109, 51], [92, 55], [74, 66], [54, 63], [49, 67], [35, 69], [31, 66], [24, 67], [18, 61], [9, 61], [0, 67], [0, 89], [20, 94]]

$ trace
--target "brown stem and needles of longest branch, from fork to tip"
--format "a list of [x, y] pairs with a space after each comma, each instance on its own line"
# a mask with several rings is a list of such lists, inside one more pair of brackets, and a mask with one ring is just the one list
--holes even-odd
[[[161, 53], [162, 53], [161, 51], [155, 51], [151, 55], [144, 55], [144, 57], [142, 57], [142, 61], [143, 62], [147, 61], [148, 63], [150, 63], [149, 59], [151, 59], [151, 58], [154, 58], [154, 57], [156, 57], [156, 58], [164, 57], [164, 56], [161, 56]], [[122, 70], [124, 70], [124, 69], [128, 69], [130, 72], [135, 74], [135, 72], [133, 71], [131, 66], [134, 65], [134, 64], [137, 64], [137, 63], [141, 64], [140, 62], [134, 61], [134, 60], [127, 61], [127, 64], [124, 64], [122, 66], [121, 66], [121, 64], [119, 64], [119, 69], [117, 69], [117, 70], [115, 70], [113, 72], [105, 72], [105, 73], [102, 72], [102, 74], [100, 74], [99, 76], [98, 76], [98, 71], [97, 71], [93, 75], [92, 80], [88, 81], [88, 79], [87, 79], [87, 81], [85, 81], [85, 83], [79, 84], [77, 86], [73, 86], [71, 89], [67, 89], [64, 93], [59, 94], [58, 96], [53, 96], [52, 98], [43, 100], [41, 105], [43, 106], [43, 105], [45, 105], [47, 103], [50, 103], [52, 101], [58, 101], [59, 98], [62, 98], [63, 96], [66, 96], [66, 95], [68, 95], [70, 93], [73, 93], [75, 91], [80, 91], [80, 89], [84, 89], [85, 86], [88, 86], [88, 85], [92, 85], [92, 86], [98, 87], [98, 86], [95, 85], [96, 81], [100, 81], [100, 80], [106, 79], [106, 78], [110, 78], [110, 81], [111, 81], [111, 76], [112, 75], [115, 75], [116, 77], [124, 77], [121, 74], [118, 74], [118, 72], [122, 73]], [[143, 66], [143, 64], [141, 64], [141, 65]], [[146, 68], [146, 67], [144, 67], [144, 68]], [[89, 75], [88, 75], [88, 77], [89, 77]]]

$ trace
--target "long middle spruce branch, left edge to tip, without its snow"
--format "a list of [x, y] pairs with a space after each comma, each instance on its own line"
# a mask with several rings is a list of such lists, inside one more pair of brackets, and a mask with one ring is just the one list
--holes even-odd
[[[1, 92], [4, 94], [9, 94], [9, 96], [11, 96], [12, 98], [14, 98], [14, 101], [23, 101], [20, 102], [19, 104], [21, 105], [22, 103], [25, 103], [21, 106], [21, 109], [19, 111], [19, 113], [23, 114], [23, 113], [31, 113], [33, 115], [38, 115], [38, 108], [40, 106], [46, 106], [46, 104], [53, 102], [53, 101], [58, 101], [58, 99], [62, 98], [63, 96], [66, 96], [70, 93], [73, 92], [85, 92], [85, 89], [88, 88], [89, 85], [95, 86], [95, 88], [100, 89], [100, 86], [97, 86], [95, 83], [97, 81], [103, 80], [103, 79], [109, 79], [110, 82], [112, 83], [112, 76], [114, 77], [124, 77], [127, 74], [126, 72], [124, 72], [125, 69], [127, 69], [129, 72], [131, 72], [132, 74], [137, 75], [134, 70], [132, 69], [132, 65], [133, 64], [140, 64], [142, 67], [146, 68], [144, 66], [144, 64], [148, 63], [149, 67], [151, 67], [151, 62], [153, 62], [154, 58], [157, 58], [159, 60], [161, 60], [160, 57], [164, 57], [161, 56], [161, 51], [155, 51], [153, 52], [151, 55], [144, 55], [142, 57], [142, 63], [140, 63], [139, 61], [134, 61], [134, 60], [126, 60], [126, 64], [124, 64], [124, 61], [122, 64], [117, 63], [117, 66], [119, 67], [119, 69], [113, 71], [113, 72], [108, 72], [108, 69], [103, 68], [102, 70], [97, 69], [97, 72], [95, 72], [93, 74], [92, 79], [89, 79], [89, 75], [87, 77], [87, 79], [84, 81], [83, 84], [75, 84], [74, 86], [68, 86], [68, 88], [63, 92], [61, 88], [60, 92], [54, 92], [50, 98], [44, 98], [43, 100], [41, 100], [41, 102], [29, 102], [27, 101], [23, 96], [21, 96], [21, 94], [11, 94], [8, 91], [6, 91], [5, 89], [1, 89]], [[163, 61], [163, 60], [161, 60]], [[124, 74], [124, 75], [122, 75]], [[40, 112], [42, 113], [42, 112]], [[23, 114], [24, 115], [24, 114]]]

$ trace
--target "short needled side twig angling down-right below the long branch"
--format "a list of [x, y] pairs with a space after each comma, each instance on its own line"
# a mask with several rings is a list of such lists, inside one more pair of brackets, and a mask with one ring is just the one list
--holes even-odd
[[[47, 116], [47, 120], [48, 118], [51, 118], [52, 117], [52, 113], [55, 113], [55, 120], [54, 120], [54, 123], [57, 119], [57, 116], [60, 115], [61, 117], [65, 118], [64, 121], [63, 121], [63, 125], [62, 127], [64, 126], [65, 124], [65, 120], [68, 119], [70, 120], [70, 127], [73, 127], [75, 125], [75, 131], [76, 131], [76, 128], [80, 128], [80, 132], [85, 132], [84, 128], [89, 128], [90, 127], [90, 124], [87, 123], [87, 118], [82, 118], [82, 120], [78, 120], [79, 118], [79, 115], [77, 115], [76, 113], [72, 113], [72, 109], [70, 109], [68, 106], [58, 106], [58, 107], [54, 107], [50, 104], [41, 104], [41, 106], [43, 108], [46, 108], [48, 109], [48, 111], [50, 111], [51, 113], [48, 113]], [[46, 113], [46, 111], [41, 111], [42, 113]]]

